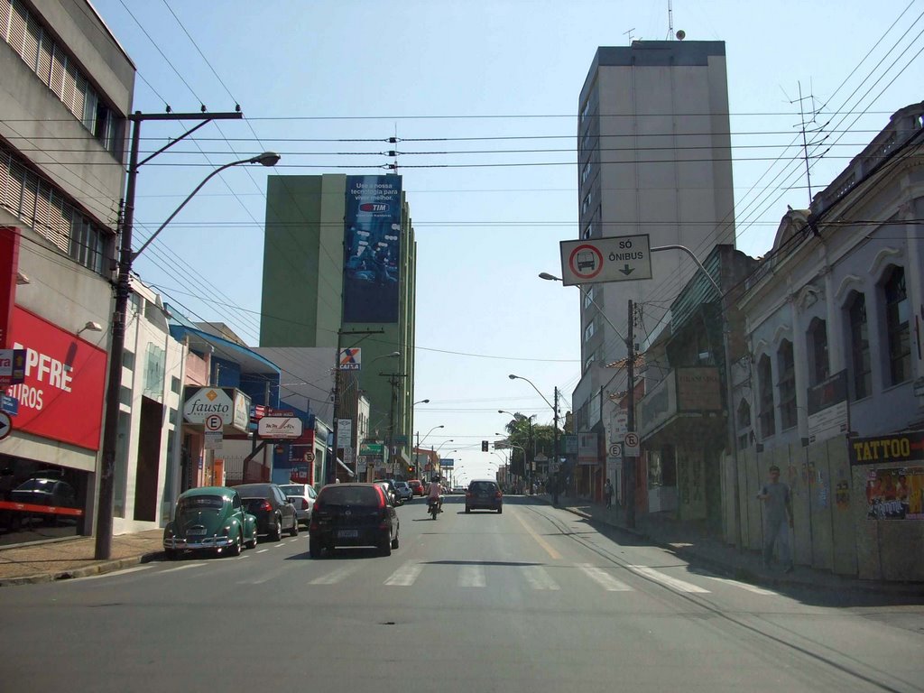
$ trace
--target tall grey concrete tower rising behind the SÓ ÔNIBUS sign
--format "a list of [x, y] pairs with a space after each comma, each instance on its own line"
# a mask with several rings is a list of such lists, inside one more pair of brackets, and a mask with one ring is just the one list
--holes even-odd
[[[577, 184], [582, 238], [647, 234], [650, 247], [682, 245], [699, 259], [735, 242], [731, 140], [723, 42], [638, 41], [597, 49], [580, 93]], [[653, 252], [652, 279], [586, 285], [581, 295], [582, 378], [576, 432], [598, 433], [579, 461], [602, 461], [609, 395], [625, 390], [628, 300], [635, 341], [657, 334], [696, 271], [677, 250]], [[618, 334], [614, 329], [618, 329]], [[580, 465], [579, 465], [580, 466]], [[598, 480], [599, 481], [599, 480]]]

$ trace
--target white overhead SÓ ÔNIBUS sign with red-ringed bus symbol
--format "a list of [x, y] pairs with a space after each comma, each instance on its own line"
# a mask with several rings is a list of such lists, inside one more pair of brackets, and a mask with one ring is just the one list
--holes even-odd
[[565, 286], [651, 278], [648, 234], [563, 240], [560, 249]]

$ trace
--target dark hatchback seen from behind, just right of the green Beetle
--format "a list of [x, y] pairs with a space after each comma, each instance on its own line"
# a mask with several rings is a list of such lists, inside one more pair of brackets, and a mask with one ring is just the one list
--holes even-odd
[[314, 502], [309, 526], [309, 553], [337, 546], [375, 546], [383, 555], [398, 548], [395, 506], [380, 483], [335, 483], [324, 486]]

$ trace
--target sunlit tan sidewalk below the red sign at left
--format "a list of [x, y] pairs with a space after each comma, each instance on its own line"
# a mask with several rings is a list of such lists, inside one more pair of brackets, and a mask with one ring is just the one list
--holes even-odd
[[108, 561], [93, 560], [93, 537], [0, 546], [0, 587], [87, 577], [146, 563], [163, 555], [163, 541], [163, 529], [120, 534], [113, 537]]

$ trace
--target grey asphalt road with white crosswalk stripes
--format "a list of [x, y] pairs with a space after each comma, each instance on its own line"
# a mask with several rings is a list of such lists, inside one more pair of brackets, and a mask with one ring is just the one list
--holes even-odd
[[400, 548], [240, 558], [0, 590], [6, 691], [921, 691], [924, 606], [779, 593], [527, 498]]

